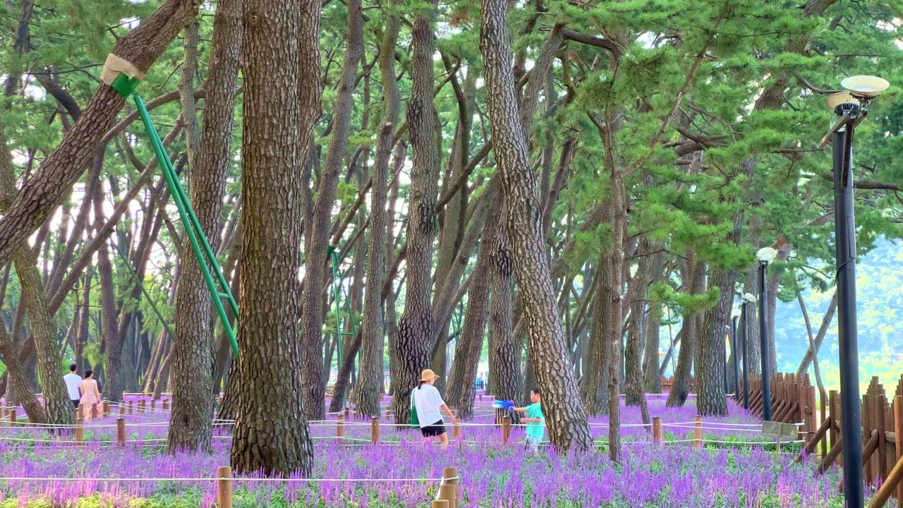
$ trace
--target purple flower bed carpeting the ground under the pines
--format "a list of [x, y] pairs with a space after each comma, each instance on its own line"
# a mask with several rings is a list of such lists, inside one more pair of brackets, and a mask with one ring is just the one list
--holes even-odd
[[[125, 447], [116, 443], [115, 416], [86, 423], [83, 445], [71, 432], [3, 428], [0, 508], [215, 506], [217, 467], [228, 465], [230, 423], [216, 422], [212, 453], [169, 456], [169, 415], [159, 406], [125, 416]], [[461, 476], [461, 506], [842, 506], [836, 468], [815, 475], [815, 458], [794, 463], [798, 446], [777, 453], [761, 435], [760, 421], [735, 405], [726, 417], [704, 419], [701, 448], [692, 443], [692, 398], [683, 408], [666, 408], [664, 397], [649, 396], [650, 414], [663, 421], [664, 446], [651, 442], [638, 408], [622, 407], [618, 465], [608, 459], [605, 417], [591, 419], [594, 452], [558, 456], [543, 447], [534, 456], [523, 445], [523, 428], [513, 428], [509, 443], [501, 443], [489, 399], [477, 401], [475, 411], [474, 421], [461, 426], [461, 438], [445, 450], [424, 447], [419, 433], [396, 429], [387, 419], [376, 446], [369, 443], [369, 421], [345, 422], [344, 439], [336, 438], [334, 417], [313, 421], [312, 479], [236, 479], [234, 506], [428, 506], [442, 469], [452, 466]]]

